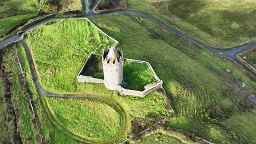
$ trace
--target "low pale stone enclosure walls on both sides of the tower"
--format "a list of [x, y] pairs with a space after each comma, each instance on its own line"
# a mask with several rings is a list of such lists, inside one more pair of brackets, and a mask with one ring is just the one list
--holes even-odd
[[[86, 76], [83, 75], [82, 72], [83, 70], [86, 69], [85, 65], [90, 61], [90, 59], [92, 59], [94, 56], [101, 56], [96, 54], [95, 52], [91, 52], [88, 59], [86, 59], [83, 68], [79, 71], [78, 75], [77, 75], [77, 80], [78, 82], [91, 82], [91, 83], [104, 83], [103, 79], [96, 79], [92, 76]], [[150, 92], [155, 91], [155, 89], [162, 87], [162, 80], [159, 79], [159, 77], [155, 74], [154, 69], [152, 68], [152, 66], [146, 62], [146, 61], [138, 61], [135, 59], [127, 59], [124, 58], [125, 61], [130, 61], [130, 62], [136, 62], [136, 63], [142, 63], [142, 64], [147, 64], [149, 69], [152, 70], [155, 80], [157, 81], [157, 83], [155, 85], [147, 85], [144, 86], [144, 91], [135, 91], [135, 90], [131, 90], [131, 89], [125, 89], [124, 87], [120, 86], [115, 89], [115, 91], [119, 92], [120, 94], [125, 94], [125, 95], [132, 95], [132, 96], [137, 96], [137, 97], [144, 97], [145, 95], [149, 94]]]

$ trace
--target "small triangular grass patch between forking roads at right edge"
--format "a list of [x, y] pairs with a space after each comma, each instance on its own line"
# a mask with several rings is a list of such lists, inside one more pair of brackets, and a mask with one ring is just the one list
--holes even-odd
[[[240, 53], [237, 57], [256, 73], [256, 48]], [[243, 57], [246, 57], [244, 59]]]

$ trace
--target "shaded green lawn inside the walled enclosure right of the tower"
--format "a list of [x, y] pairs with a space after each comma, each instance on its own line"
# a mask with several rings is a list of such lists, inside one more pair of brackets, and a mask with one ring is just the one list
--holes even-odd
[[124, 63], [124, 81], [127, 82], [126, 89], [143, 91], [144, 86], [155, 81], [155, 77], [148, 65], [126, 61]]

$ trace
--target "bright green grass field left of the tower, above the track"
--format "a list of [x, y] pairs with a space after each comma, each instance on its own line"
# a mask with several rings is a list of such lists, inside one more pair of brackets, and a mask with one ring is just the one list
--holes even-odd
[[55, 20], [45, 23], [29, 32], [26, 41], [32, 51], [40, 82], [49, 91], [106, 91], [103, 85], [77, 81], [77, 74], [90, 52], [101, 53], [113, 43], [88, 20]]

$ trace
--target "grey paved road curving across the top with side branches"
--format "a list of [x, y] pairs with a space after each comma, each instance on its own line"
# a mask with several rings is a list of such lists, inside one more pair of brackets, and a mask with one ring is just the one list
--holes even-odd
[[[204, 47], [205, 49], [208, 49], [210, 51], [213, 51], [213, 52], [217, 52], [217, 53], [222, 53], [222, 55], [225, 55], [225, 56], [228, 56], [230, 57], [231, 59], [233, 59], [235, 62], [237, 62], [238, 64], [240, 64], [243, 68], [245, 68], [249, 73], [251, 73], [253, 76], [256, 76], [256, 73], [254, 73], [253, 70], [249, 69], [245, 64], [243, 64], [237, 57], [236, 55], [238, 53], [241, 53], [243, 51], [246, 51], [248, 49], [251, 49], [252, 47], [256, 46], [256, 41], [254, 41], [253, 43], [249, 43], [249, 44], [246, 44], [246, 45], [242, 45], [242, 46], [237, 46], [235, 47], [234, 49], [232, 50], [219, 50], [219, 49], [214, 49], [214, 47], [211, 47], [211, 46], [208, 46], [206, 44], [203, 44], [201, 43], [200, 41], [197, 41], [191, 37], [189, 37], [188, 35], [185, 35], [183, 34], [182, 32], [178, 31], [178, 29], [168, 25], [167, 23], [159, 20], [159, 19], [156, 19], [155, 17], [153, 16], [150, 16], [148, 14], [145, 14], [145, 13], [141, 13], [139, 11], [135, 11], [135, 10], [119, 10], [119, 11], [112, 11], [112, 12], [109, 12], [109, 13], [103, 13], [103, 14], [100, 14], [100, 13], [94, 13], [94, 8], [96, 7], [97, 3], [98, 3], [98, 0], [96, 0], [96, 2], [94, 3], [94, 6], [89, 9], [89, 2], [88, 0], [84, 0], [84, 3], [85, 3], [85, 13], [86, 15], [84, 17], [98, 17], [98, 16], [107, 16], [107, 15], [113, 15], [113, 14], [136, 14], [136, 15], [140, 15], [140, 16], [143, 16], [143, 17], [146, 17], [147, 19], [150, 19], [150, 20], [153, 20], [157, 23], [159, 23], [160, 25], [166, 27], [167, 29], [169, 29], [170, 31], [174, 32], [174, 33], [177, 33], [178, 35], [181, 35], [181, 37], [185, 38], [185, 39], [188, 39], [189, 41], [201, 46], [201, 47]], [[39, 26], [39, 25], [42, 25], [43, 23], [45, 22], [49, 22], [49, 21], [52, 21], [52, 20], [57, 20], [57, 19], [69, 19], [70, 17], [53, 17], [53, 18], [50, 18], [48, 20], [44, 20], [44, 21], [41, 21], [41, 22], [38, 22], [36, 23], [35, 25], [25, 29], [25, 32], [27, 31], [30, 31], [31, 29]], [[21, 40], [22, 38], [20, 38], [20, 35], [13, 35], [12, 37], [2, 41], [0, 43], [0, 49], [1, 47], [4, 47], [5, 45], [13, 42], [13, 41], [17, 41], [17, 40]]]

